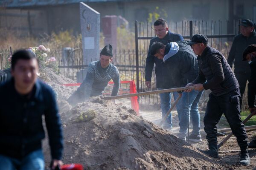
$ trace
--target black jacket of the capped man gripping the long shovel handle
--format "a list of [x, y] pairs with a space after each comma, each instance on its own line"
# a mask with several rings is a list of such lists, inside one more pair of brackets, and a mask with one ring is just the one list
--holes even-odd
[[203, 83], [204, 89], [211, 89], [215, 96], [221, 96], [239, 88], [232, 69], [218, 50], [207, 45], [197, 59], [199, 75], [192, 82], [193, 84]]

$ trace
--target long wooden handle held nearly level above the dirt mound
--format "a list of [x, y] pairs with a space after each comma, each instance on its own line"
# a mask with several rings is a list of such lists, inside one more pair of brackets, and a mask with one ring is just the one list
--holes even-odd
[[133, 93], [133, 94], [123, 94], [119, 96], [107, 96], [107, 97], [102, 97], [102, 99], [104, 100], [121, 99], [126, 97], [143, 96], [143, 95], [149, 95], [149, 94], [167, 93], [167, 92], [173, 92], [173, 91], [184, 91], [184, 90], [194, 89], [194, 88], [195, 88], [194, 86], [182, 87], [182, 88], [168, 88], [168, 89], [156, 90], [156, 91], [145, 91], [145, 92]]

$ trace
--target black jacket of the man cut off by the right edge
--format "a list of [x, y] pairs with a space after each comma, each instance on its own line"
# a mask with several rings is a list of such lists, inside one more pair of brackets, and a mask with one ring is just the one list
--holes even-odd
[[255, 106], [255, 97], [256, 97], [256, 58], [252, 58], [252, 62], [250, 63], [250, 79], [248, 83], [248, 105], [249, 108], [256, 107]]

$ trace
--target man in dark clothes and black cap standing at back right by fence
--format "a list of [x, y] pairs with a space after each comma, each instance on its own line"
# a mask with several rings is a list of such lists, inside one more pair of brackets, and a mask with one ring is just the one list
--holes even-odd
[[[242, 98], [245, 91], [247, 80], [250, 78], [250, 67], [242, 61], [242, 54], [244, 49], [251, 44], [256, 44], [256, 32], [254, 29], [254, 23], [251, 20], [245, 19], [241, 21], [241, 34], [238, 34], [232, 44], [230, 53], [227, 59], [228, 64], [232, 68], [233, 63], [235, 67], [236, 79], [239, 82], [239, 88], [241, 92], [240, 107], [242, 104]], [[235, 60], [235, 62], [234, 62]]]

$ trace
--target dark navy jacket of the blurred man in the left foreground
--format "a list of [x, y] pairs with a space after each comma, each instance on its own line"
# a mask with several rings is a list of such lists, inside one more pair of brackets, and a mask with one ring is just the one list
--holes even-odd
[[37, 80], [28, 98], [18, 94], [11, 79], [0, 85], [0, 94], [0, 154], [22, 159], [41, 149], [44, 115], [52, 159], [61, 159], [61, 121], [52, 89]]

